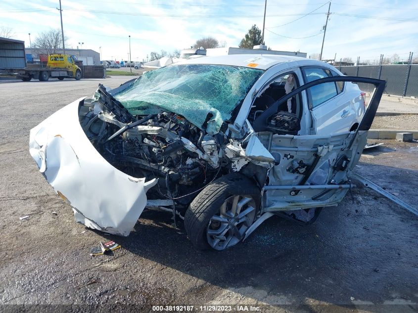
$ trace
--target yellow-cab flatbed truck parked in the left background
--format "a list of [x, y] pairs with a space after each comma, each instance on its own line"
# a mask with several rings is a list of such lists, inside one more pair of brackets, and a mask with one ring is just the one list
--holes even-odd
[[[33, 66], [33, 67], [32, 67]], [[49, 77], [62, 81], [64, 78], [81, 79], [81, 69], [76, 65], [75, 59], [69, 54], [49, 54], [46, 67], [29, 64], [24, 68], [0, 68], [6, 74], [13, 74], [24, 82], [32, 78], [46, 82]]]

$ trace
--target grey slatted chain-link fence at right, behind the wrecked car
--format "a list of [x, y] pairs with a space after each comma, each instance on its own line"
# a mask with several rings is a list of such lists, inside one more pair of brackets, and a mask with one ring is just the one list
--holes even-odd
[[[418, 64], [337, 66], [347, 76], [377, 78], [386, 81], [385, 93], [418, 97]], [[372, 92], [370, 84], [359, 84], [360, 89]]]

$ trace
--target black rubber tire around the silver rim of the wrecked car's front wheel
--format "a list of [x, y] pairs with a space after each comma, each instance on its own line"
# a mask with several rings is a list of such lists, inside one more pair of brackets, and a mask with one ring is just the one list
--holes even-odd
[[232, 195], [251, 196], [256, 203], [256, 212], [259, 210], [261, 193], [254, 181], [237, 173], [214, 180], [194, 198], [186, 211], [186, 233], [196, 249], [211, 248], [206, 237], [209, 221]]

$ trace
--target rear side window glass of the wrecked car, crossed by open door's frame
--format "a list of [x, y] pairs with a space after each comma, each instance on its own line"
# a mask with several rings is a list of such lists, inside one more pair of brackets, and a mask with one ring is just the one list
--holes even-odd
[[[305, 76], [306, 83], [313, 82], [317, 79], [331, 77], [332, 73], [324, 68], [304, 68], [303, 74]], [[336, 96], [340, 91], [337, 92], [335, 83], [324, 83], [308, 90], [309, 102], [312, 108], [324, 103], [330, 98]]]

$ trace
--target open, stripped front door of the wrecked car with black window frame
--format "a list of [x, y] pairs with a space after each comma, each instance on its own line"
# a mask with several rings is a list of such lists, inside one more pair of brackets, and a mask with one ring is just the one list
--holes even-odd
[[[359, 127], [339, 134], [296, 135], [297, 117], [278, 112], [278, 107], [306, 89], [330, 82], [374, 85]], [[351, 188], [350, 174], [366, 145], [384, 87], [385, 81], [376, 79], [326, 77], [293, 90], [256, 118], [253, 129], [276, 160], [264, 186], [262, 213], [333, 206], [342, 200]]]

